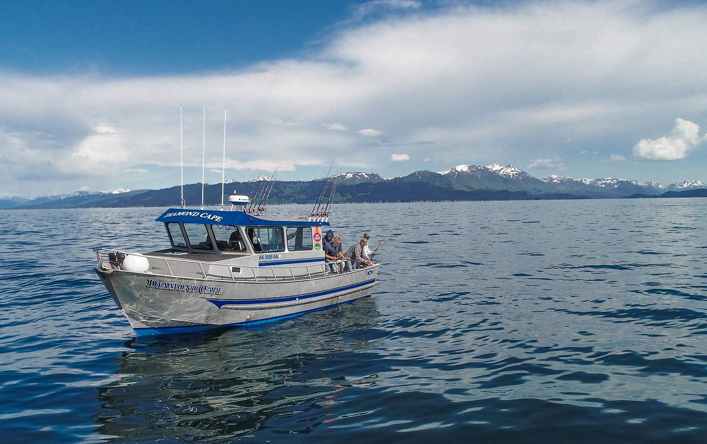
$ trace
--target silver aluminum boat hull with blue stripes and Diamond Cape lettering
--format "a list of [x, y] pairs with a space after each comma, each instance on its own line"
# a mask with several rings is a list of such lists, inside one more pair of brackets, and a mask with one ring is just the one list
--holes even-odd
[[252, 325], [370, 296], [378, 265], [292, 281], [224, 281], [96, 269], [138, 336]]

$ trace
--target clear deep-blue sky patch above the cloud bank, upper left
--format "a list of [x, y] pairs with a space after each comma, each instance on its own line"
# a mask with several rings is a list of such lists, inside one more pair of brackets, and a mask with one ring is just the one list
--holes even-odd
[[218, 71], [297, 56], [348, 1], [4, 1], [4, 69], [105, 76]]

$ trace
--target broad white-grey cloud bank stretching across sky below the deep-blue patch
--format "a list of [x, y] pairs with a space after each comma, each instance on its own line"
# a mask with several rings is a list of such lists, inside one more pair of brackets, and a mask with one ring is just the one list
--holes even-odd
[[[283, 163], [280, 177], [300, 179], [311, 176], [299, 171], [332, 158], [351, 168], [364, 168], [365, 158], [385, 175], [390, 146], [406, 146], [420, 169], [490, 162], [556, 169], [563, 163], [545, 158], [548, 146], [566, 160], [596, 146], [615, 151], [617, 140], [630, 141], [628, 149], [666, 118], [695, 119], [707, 109], [707, 57], [696, 57], [707, 54], [706, 5], [448, 5], [374, 2], [363, 11], [367, 20], [334, 26], [319, 47], [247, 69], [129, 77], [0, 71], [1, 187], [113, 189], [126, 184], [125, 174], [173, 185], [157, 172], [179, 165], [180, 104], [185, 165], [201, 165], [206, 106], [206, 165], [221, 167], [228, 108], [227, 174], [247, 178]], [[681, 119], [670, 136], [640, 141], [634, 156], [684, 158], [697, 146], [691, 125]], [[201, 180], [200, 170], [185, 180]]]

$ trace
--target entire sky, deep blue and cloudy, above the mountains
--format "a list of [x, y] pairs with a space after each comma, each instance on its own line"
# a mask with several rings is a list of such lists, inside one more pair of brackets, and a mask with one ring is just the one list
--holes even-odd
[[5, 1], [0, 194], [513, 164], [707, 181], [707, 6]]

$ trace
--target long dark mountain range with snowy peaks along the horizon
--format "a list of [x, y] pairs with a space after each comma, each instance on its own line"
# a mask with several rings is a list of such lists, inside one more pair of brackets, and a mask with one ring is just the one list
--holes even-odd
[[[699, 180], [683, 180], [670, 185], [657, 182], [614, 179], [575, 179], [550, 175], [542, 180], [513, 165], [457, 165], [449, 170], [415, 171], [406, 176], [384, 179], [375, 173], [341, 173], [335, 202], [447, 201], [447, 200], [525, 200], [525, 199], [612, 199], [621, 197], [658, 197], [677, 192], [678, 197], [695, 189], [707, 189]], [[227, 195], [233, 189], [250, 194], [267, 177], [237, 182], [227, 180]], [[310, 181], [275, 180], [269, 202], [272, 204], [312, 203], [322, 189], [323, 177]], [[204, 186], [205, 204], [221, 203], [221, 184]], [[699, 196], [701, 192], [684, 194]], [[673, 197], [673, 196], [672, 196]], [[185, 200], [190, 206], [201, 202], [201, 184], [185, 185]], [[180, 201], [180, 187], [165, 189], [117, 189], [114, 192], [76, 192], [35, 199], [0, 199], [0, 208], [90, 208], [129, 206], [170, 206]], [[228, 201], [223, 197], [223, 201]]]

